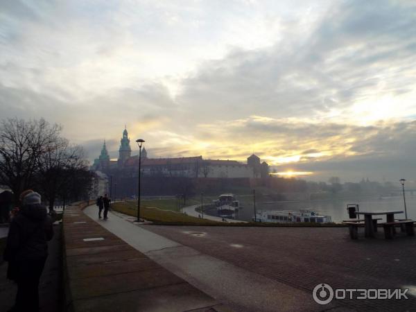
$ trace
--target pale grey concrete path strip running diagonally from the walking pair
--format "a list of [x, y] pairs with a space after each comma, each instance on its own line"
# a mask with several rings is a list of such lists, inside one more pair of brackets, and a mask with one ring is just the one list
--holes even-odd
[[[144, 226], [119, 218], [115, 214], [111, 214], [108, 220], [102, 221], [97, 220], [94, 206], [87, 207], [84, 212], [133, 248], [235, 311], [327, 311], [329, 309], [341, 311], [332, 304], [327, 306], [316, 304], [308, 291], [282, 284], [227, 261], [202, 254], [193, 248], [150, 232]], [[157, 226], [148, 225], [148, 227]], [[187, 234], [203, 235], [198, 232]], [[342, 309], [342, 311], [347, 310]]]

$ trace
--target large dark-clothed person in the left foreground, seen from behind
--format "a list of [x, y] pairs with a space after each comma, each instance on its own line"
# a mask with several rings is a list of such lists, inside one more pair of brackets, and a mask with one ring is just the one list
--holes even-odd
[[52, 219], [41, 205], [40, 194], [26, 193], [10, 224], [3, 255], [9, 263], [8, 279], [17, 282], [15, 306], [10, 311], [39, 311], [39, 281], [52, 237]]

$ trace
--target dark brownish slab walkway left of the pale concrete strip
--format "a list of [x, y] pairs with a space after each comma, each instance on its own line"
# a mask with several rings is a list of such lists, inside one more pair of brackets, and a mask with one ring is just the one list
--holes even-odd
[[95, 205], [86, 210], [91, 218], [78, 207], [64, 216], [70, 311], [230, 311], [105, 229], [119, 220], [122, 234], [139, 236], [129, 230], [139, 227], [113, 214], [98, 220]]

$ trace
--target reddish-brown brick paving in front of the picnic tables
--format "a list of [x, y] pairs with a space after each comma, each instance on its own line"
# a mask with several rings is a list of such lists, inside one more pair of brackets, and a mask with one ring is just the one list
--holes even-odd
[[[145, 229], [204, 254], [312, 292], [333, 288], [416, 288], [416, 238], [349, 239], [347, 228], [192, 227], [146, 225]], [[192, 234], [192, 233], [204, 234]], [[381, 230], [382, 232], [382, 230]], [[416, 311], [408, 300], [336, 300], [358, 311]]]

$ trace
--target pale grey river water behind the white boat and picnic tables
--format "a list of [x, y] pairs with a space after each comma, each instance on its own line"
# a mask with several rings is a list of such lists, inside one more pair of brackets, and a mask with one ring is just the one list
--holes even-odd
[[[236, 197], [239, 200], [238, 196]], [[252, 200], [241, 198], [240, 220], [251, 220], [254, 216], [254, 204]], [[311, 200], [295, 202], [256, 202], [257, 211], [262, 210], [293, 210], [311, 209], [319, 214], [329, 215], [333, 222], [340, 222], [348, 217], [347, 204], [358, 204], [360, 211], [404, 211], [403, 196], [365, 199], [336, 199], [336, 200]], [[406, 193], [406, 207], [408, 218], [416, 220], [416, 195]], [[363, 218], [361, 216], [361, 218]], [[379, 216], [377, 217], [379, 218]], [[395, 214], [395, 218], [405, 218], [405, 214]], [[384, 218], [385, 219], [385, 218]]]

